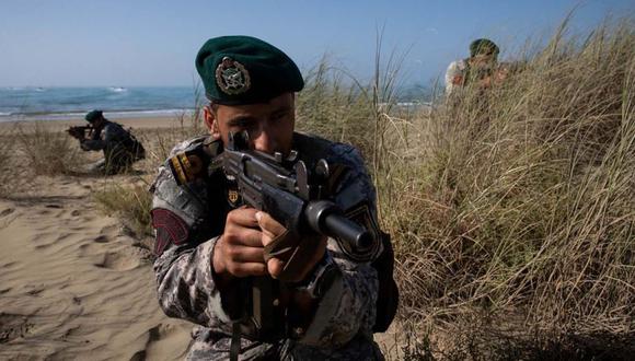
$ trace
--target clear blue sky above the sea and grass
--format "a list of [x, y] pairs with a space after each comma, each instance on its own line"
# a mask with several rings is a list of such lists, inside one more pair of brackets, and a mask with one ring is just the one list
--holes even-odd
[[358, 80], [383, 59], [402, 82], [429, 83], [495, 40], [503, 58], [546, 38], [576, 8], [572, 33], [633, 16], [633, 0], [0, 0], [0, 86], [193, 86], [194, 58], [215, 36], [251, 35], [307, 72], [327, 56]]

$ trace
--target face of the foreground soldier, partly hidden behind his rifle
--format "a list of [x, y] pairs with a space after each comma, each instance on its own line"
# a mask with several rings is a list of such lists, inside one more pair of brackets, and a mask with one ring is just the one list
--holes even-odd
[[229, 133], [246, 130], [255, 150], [273, 154], [291, 151], [296, 126], [293, 93], [285, 93], [267, 103], [250, 105], [218, 105], [204, 108], [205, 123], [215, 139], [228, 143]]

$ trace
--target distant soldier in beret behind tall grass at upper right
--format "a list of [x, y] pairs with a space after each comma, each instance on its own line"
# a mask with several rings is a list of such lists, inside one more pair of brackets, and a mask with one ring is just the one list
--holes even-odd
[[452, 61], [446, 71], [446, 94], [457, 89], [474, 85], [487, 89], [505, 79], [504, 69], [498, 67], [498, 46], [487, 38], [475, 39], [470, 44], [470, 58]]

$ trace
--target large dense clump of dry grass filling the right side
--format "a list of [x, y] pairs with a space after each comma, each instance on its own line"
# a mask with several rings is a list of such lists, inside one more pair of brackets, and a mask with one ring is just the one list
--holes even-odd
[[382, 203], [402, 315], [476, 308], [519, 329], [633, 337], [633, 25], [584, 43], [558, 32], [499, 86], [412, 119], [423, 142], [392, 158], [396, 198]]

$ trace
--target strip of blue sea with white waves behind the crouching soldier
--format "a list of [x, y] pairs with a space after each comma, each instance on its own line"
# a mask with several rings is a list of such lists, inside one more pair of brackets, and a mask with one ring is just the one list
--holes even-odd
[[108, 118], [182, 115], [201, 101], [194, 86], [0, 88], [0, 121], [82, 119], [92, 109]]

